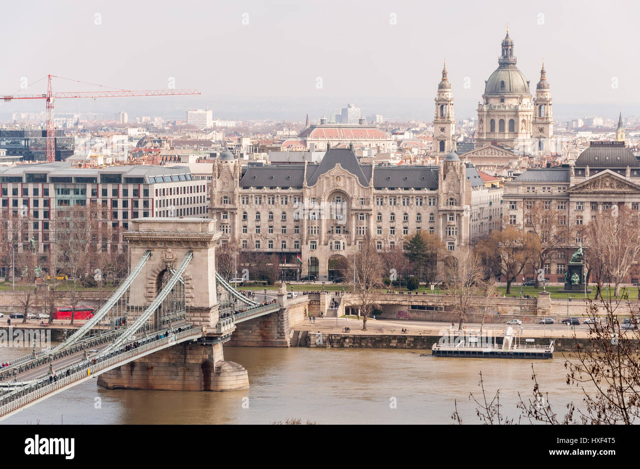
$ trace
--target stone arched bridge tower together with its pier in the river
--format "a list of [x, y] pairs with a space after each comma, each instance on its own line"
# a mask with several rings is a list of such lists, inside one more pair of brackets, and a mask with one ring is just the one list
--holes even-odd
[[216, 221], [204, 218], [143, 218], [131, 221], [125, 234], [135, 266], [145, 251], [151, 257], [139, 274], [144, 287], [132, 289], [130, 306], [151, 303], [161, 287], [165, 271], [177, 269], [188, 251], [193, 258], [183, 274], [186, 319], [202, 326], [204, 336], [194, 342], [182, 342], [110, 370], [98, 378], [109, 389], [152, 389], [175, 391], [224, 391], [247, 389], [246, 370], [234, 362], [225, 362], [222, 344], [235, 330], [216, 331], [218, 298], [215, 277], [215, 246], [220, 232]]

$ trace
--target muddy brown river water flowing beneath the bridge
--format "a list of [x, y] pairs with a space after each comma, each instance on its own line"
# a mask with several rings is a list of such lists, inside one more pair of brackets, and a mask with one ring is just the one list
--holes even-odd
[[[0, 349], [6, 362], [30, 349]], [[432, 358], [396, 349], [225, 347], [241, 363], [251, 388], [232, 392], [106, 390], [92, 380], [31, 406], [2, 424], [270, 424], [301, 418], [318, 424], [451, 424], [454, 399], [465, 424], [479, 423], [479, 372], [502, 412], [520, 415], [518, 391], [530, 397], [531, 362]], [[582, 394], [566, 385], [562, 354], [534, 363], [556, 412]], [[392, 404], [396, 402], [396, 408]]]

